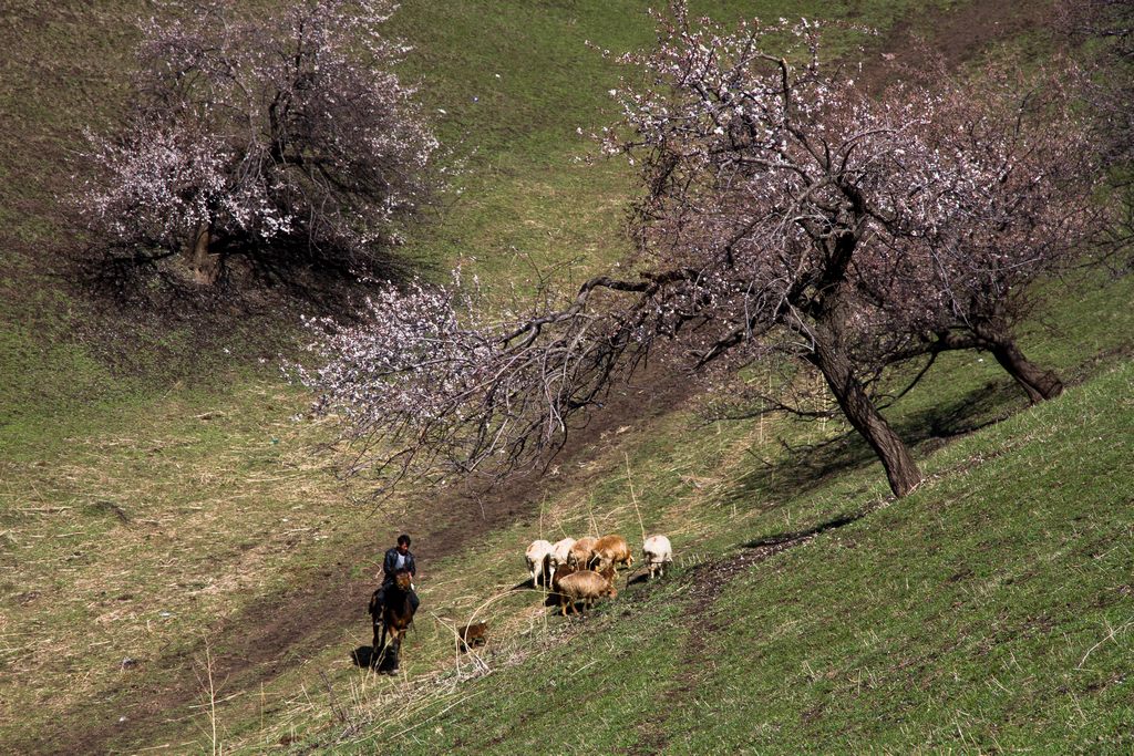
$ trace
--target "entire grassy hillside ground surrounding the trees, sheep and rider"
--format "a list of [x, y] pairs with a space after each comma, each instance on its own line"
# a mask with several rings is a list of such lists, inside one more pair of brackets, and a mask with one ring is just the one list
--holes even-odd
[[[631, 177], [581, 162], [575, 129], [609, 120], [618, 76], [584, 42], [648, 44], [645, 5], [403, 5], [407, 74], [464, 164], [409, 245], [430, 274], [462, 262], [506, 290], [625, 253]], [[968, 8], [694, 6], [875, 25], [872, 56], [895, 25], [956, 36]], [[931, 478], [897, 506], [838, 424], [706, 428], [679, 405], [608, 419], [543, 481], [375, 508], [278, 376], [303, 306], [155, 321], [68, 277], [68, 155], [117, 117], [147, 12], [0, 11], [0, 751], [685, 753], [710, 732], [727, 750], [1129, 749], [1127, 283], [1025, 334], [1083, 382], [1067, 397], [1019, 413], [976, 355], [906, 397], [891, 417]], [[425, 604], [391, 681], [348, 652], [401, 529]], [[534, 537], [643, 529], [671, 534], [677, 569], [593, 619], [523, 587]], [[491, 643], [455, 657], [449, 627], [474, 613]]]

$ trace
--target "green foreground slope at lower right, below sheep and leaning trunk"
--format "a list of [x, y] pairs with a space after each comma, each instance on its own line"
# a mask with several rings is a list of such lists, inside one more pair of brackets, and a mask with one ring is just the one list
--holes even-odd
[[[678, 567], [585, 623], [536, 625], [548, 648], [502, 642], [488, 677], [446, 688], [414, 665], [432, 700], [408, 705], [387, 688], [364, 734], [337, 749], [325, 734], [310, 742], [423, 754], [692, 754], [709, 740], [721, 753], [1128, 749], [1132, 390], [1127, 363], [951, 444], [925, 460], [915, 494], [742, 570], [708, 603], [700, 568]], [[886, 500], [875, 469], [849, 470], [748, 517], [702, 509], [711, 532], [675, 541], [693, 562], [728, 559]], [[633, 519], [620, 525], [633, 532]], [[401, 705], [408, 714], [392, 714]]]

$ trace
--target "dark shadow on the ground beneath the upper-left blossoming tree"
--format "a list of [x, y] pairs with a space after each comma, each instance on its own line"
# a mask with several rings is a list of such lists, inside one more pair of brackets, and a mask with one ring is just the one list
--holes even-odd
[[196, 283], [176, 254], [98, 243], [73, 250], [60, 287], [91, 309], [76, 320], [75, 338], [117, 373], [145, 372], [138, 356], [153, 355], [170, 380], [196, 375], [201, 356], [231, 363], [228, 351], [218, 354], [222, 348], [274, 360], [294, 354], [301, 315], [357, 323], [366, 295], [415, 272], [392, 254], [359, 266], [282, 246], [276, 255], [232, 250], [211, 284]]

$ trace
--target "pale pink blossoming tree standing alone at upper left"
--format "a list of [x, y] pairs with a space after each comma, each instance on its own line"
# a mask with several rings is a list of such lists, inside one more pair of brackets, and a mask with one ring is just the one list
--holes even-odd
[[91, 135], [81, 202], [135, 257], [184, 255], [208, 283], [244, 254], [364, 264], [426, 194], [437, 146], [379, 34], [387, 0], [166, 2], [143, 25], [125, 125]]

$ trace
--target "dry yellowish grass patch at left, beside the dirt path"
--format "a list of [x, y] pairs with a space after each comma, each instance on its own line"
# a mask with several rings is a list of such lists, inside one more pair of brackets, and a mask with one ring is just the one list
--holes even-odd
[[350, 490], [312, 453], [323, 428], [261, 409], [302, 399], [255, 384], [208, 419], [171, 399], [69, 439], [58, 459], [5, 464], [0, 698], [19, 712], [7, 727], [34, 730], [147, 674], [356, 526]]

